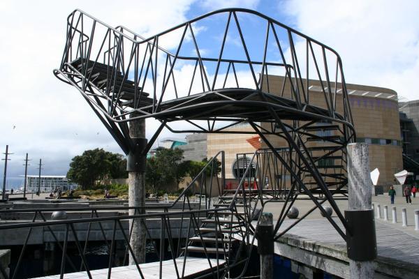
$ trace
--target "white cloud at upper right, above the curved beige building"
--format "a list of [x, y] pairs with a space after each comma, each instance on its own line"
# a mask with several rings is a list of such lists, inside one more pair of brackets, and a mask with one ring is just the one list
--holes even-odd
[[346, 82], [419, 98], [418, 1], [289, 1], [279, 9], [295, 29], [339, 53]]

